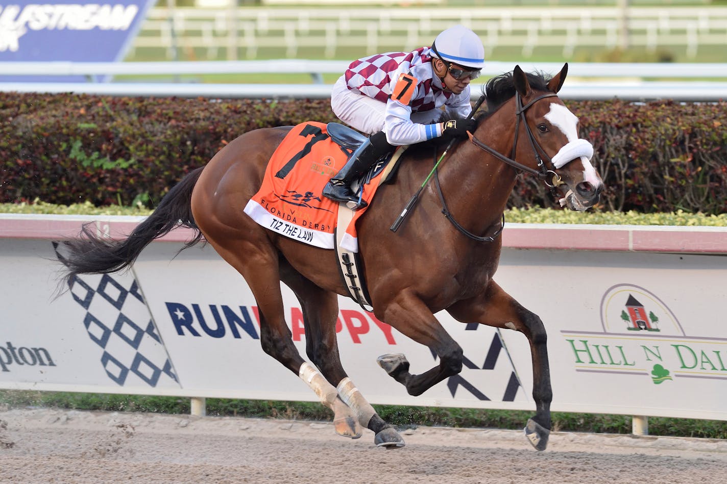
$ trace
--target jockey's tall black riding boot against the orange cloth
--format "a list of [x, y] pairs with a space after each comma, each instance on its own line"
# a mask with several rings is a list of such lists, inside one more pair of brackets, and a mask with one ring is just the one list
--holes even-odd
[[[323, 195], [334, 201], [346, 203], [356, 210], [366, 206], [366, 202], [358, 201], [358, 195], [351, 190], [351, 183], [369, 171], [379, 158], [388, 153], [393, 147], [386, 142], [386, 134], [378, 132], [372, 134], [364, 143], [353, 152], [342, 169], [326, 183]], [[352, 202], [353, 206], [350, 203]]]

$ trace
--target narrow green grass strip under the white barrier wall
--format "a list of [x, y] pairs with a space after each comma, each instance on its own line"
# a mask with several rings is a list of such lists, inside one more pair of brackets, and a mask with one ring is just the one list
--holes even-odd
[[[188, 414], [190, 400], [178, 397], [111, 395], [100, 393], [34, 392], [0, 390], [0, 408], [68, 408], [87, 411], [137, 411]], [[330, 422], [331, 412], [320, 403], [273, 400], [208, 398], [208, 416], [296, 419]], [[399, 429], [443, 426], [460, 428], [522, 429], [530, 411], [478, 408], [410, 407], [374, 405], [379, 416]], [[727, 422], [649, 417], [651, 435], [727, 438]], [[554, 432], [630, 434], [631, 418], [624, 415], [553, 413]]]

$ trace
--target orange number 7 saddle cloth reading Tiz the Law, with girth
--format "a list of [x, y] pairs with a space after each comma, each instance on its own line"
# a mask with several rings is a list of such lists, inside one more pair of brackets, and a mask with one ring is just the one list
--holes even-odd
[[[244, 209], [268, 230], [321, 249], [335, 249], [350, 297], [361, 307], [371, 304], [359, 270], [356, 222], [368, 207], [351, 211], [321, 193], [365, 140], [363, 134], [338, 123], [308, 121], [294, 126], [270, 157], [262, 186]], [[370, 203], [382, 182], [392, 179], [404, 149], [382, 158], [362, 177], [364, 200]]]

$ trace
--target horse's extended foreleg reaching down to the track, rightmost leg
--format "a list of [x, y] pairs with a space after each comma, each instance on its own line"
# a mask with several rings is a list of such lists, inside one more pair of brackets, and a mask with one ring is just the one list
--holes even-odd
[[510, 297], [494, 281], [490, 281], [480, 297], [461, 301], [449, 307], [449, 313], [463, 323], [481, 323], [496, 328], [521, 331], [530, 343], [533, 364], [533, 400], [536, 414], [525, 427], [530, 443], [545, 451], [550, 435], [550, 366], [547, 356], [547, 334], [542, 320]]

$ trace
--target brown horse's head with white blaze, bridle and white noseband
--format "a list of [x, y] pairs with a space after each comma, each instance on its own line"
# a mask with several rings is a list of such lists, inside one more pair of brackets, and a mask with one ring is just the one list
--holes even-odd
[[[512, 159], [499, 153], [495, 156], [559, 190], [563, 196], [561, 206], [585, 210], [598, 203], [603, 181], [590, 163], [593, 146], [578, 137], [578, 118], [557, 94], [567, 72], [568, 64], [548, 81], [537, 74], [524, 73], [518, 65], [513, 73], [491, 79], [486, 92], [488, 97], [497, 97], [498, 90], [499, 94], [504, 90], [502, 84], [510, 89], [514, 84], [509, 91], [515, 92]], [[473, 142], [486, 149], [478, 140], [473, 138]]]

